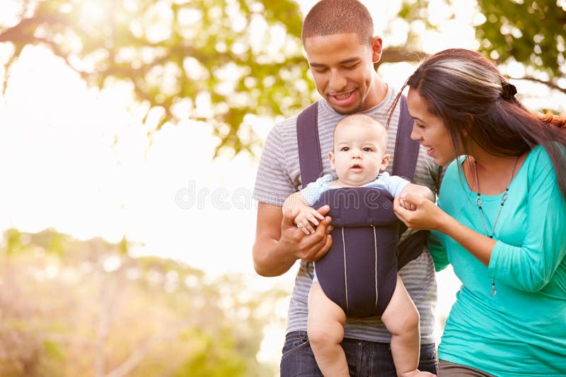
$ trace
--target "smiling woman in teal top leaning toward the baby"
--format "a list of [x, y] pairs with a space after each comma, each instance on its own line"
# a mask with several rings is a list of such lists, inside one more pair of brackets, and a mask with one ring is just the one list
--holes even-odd
[[408, 227], [433, 230], [437, 270], [451, 263], [462, 282], [439, 375], [566, 376], [566, 119], [529, 112], [465, 49], [429, 56], [405, 85], [411, 137], [450, 163], [438, 206], [395, 199]]

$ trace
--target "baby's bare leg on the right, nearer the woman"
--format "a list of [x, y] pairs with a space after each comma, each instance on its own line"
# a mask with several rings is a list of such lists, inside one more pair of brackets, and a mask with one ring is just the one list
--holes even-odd
[[434, 376], [417, 369], [420, 354], [419, 312], [399, 276], [381, 321], [391, 333], [391, 354], [397, 376]]

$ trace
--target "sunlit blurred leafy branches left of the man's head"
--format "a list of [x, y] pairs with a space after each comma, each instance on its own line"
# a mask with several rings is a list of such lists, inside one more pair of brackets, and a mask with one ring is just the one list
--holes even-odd
[[[146, 121], [207, 121], [217, 150], [258, 141], [247, 114], [290, 114], [310, 100], [299, 5], [291, 0], [21, 0], [9, 68], [30, 44], [91, 85], [128, 83]], [[8, 71], [9, 73], [9, 71]], [[4, 86], [8, 75], [4, 78]], [[305, 95], [306, 94], [306, 95]]]

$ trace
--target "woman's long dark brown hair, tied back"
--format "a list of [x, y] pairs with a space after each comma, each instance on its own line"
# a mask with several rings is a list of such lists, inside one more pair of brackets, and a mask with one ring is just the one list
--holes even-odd
[[442, 119], [456, 155], [468, 155], [464, 130], [480, 148], [499, 157], [542, 145], [566, 198], [566, 118], [526, 109], [514, 96], [514, 86], [483, 55], [467, 49], [438, 52], [422, 62], [405, 86], [417, 90], [428, 111]]

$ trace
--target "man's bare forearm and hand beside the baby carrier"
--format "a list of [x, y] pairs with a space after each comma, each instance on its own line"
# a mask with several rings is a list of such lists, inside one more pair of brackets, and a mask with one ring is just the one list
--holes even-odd
[[[328, 214], [328, 205], [318, 209]], [[286, 273], [297, 259], [316, 261], [332, 246], [330, 217], [326, 216], [316, 227], [315, 234], [304, 234], [293, 220], [298, 211], [286, 210], [277, 205], [259, 203], [258, 220], [253, 244], [253, 265], [262, 276], [279, 276]]]

